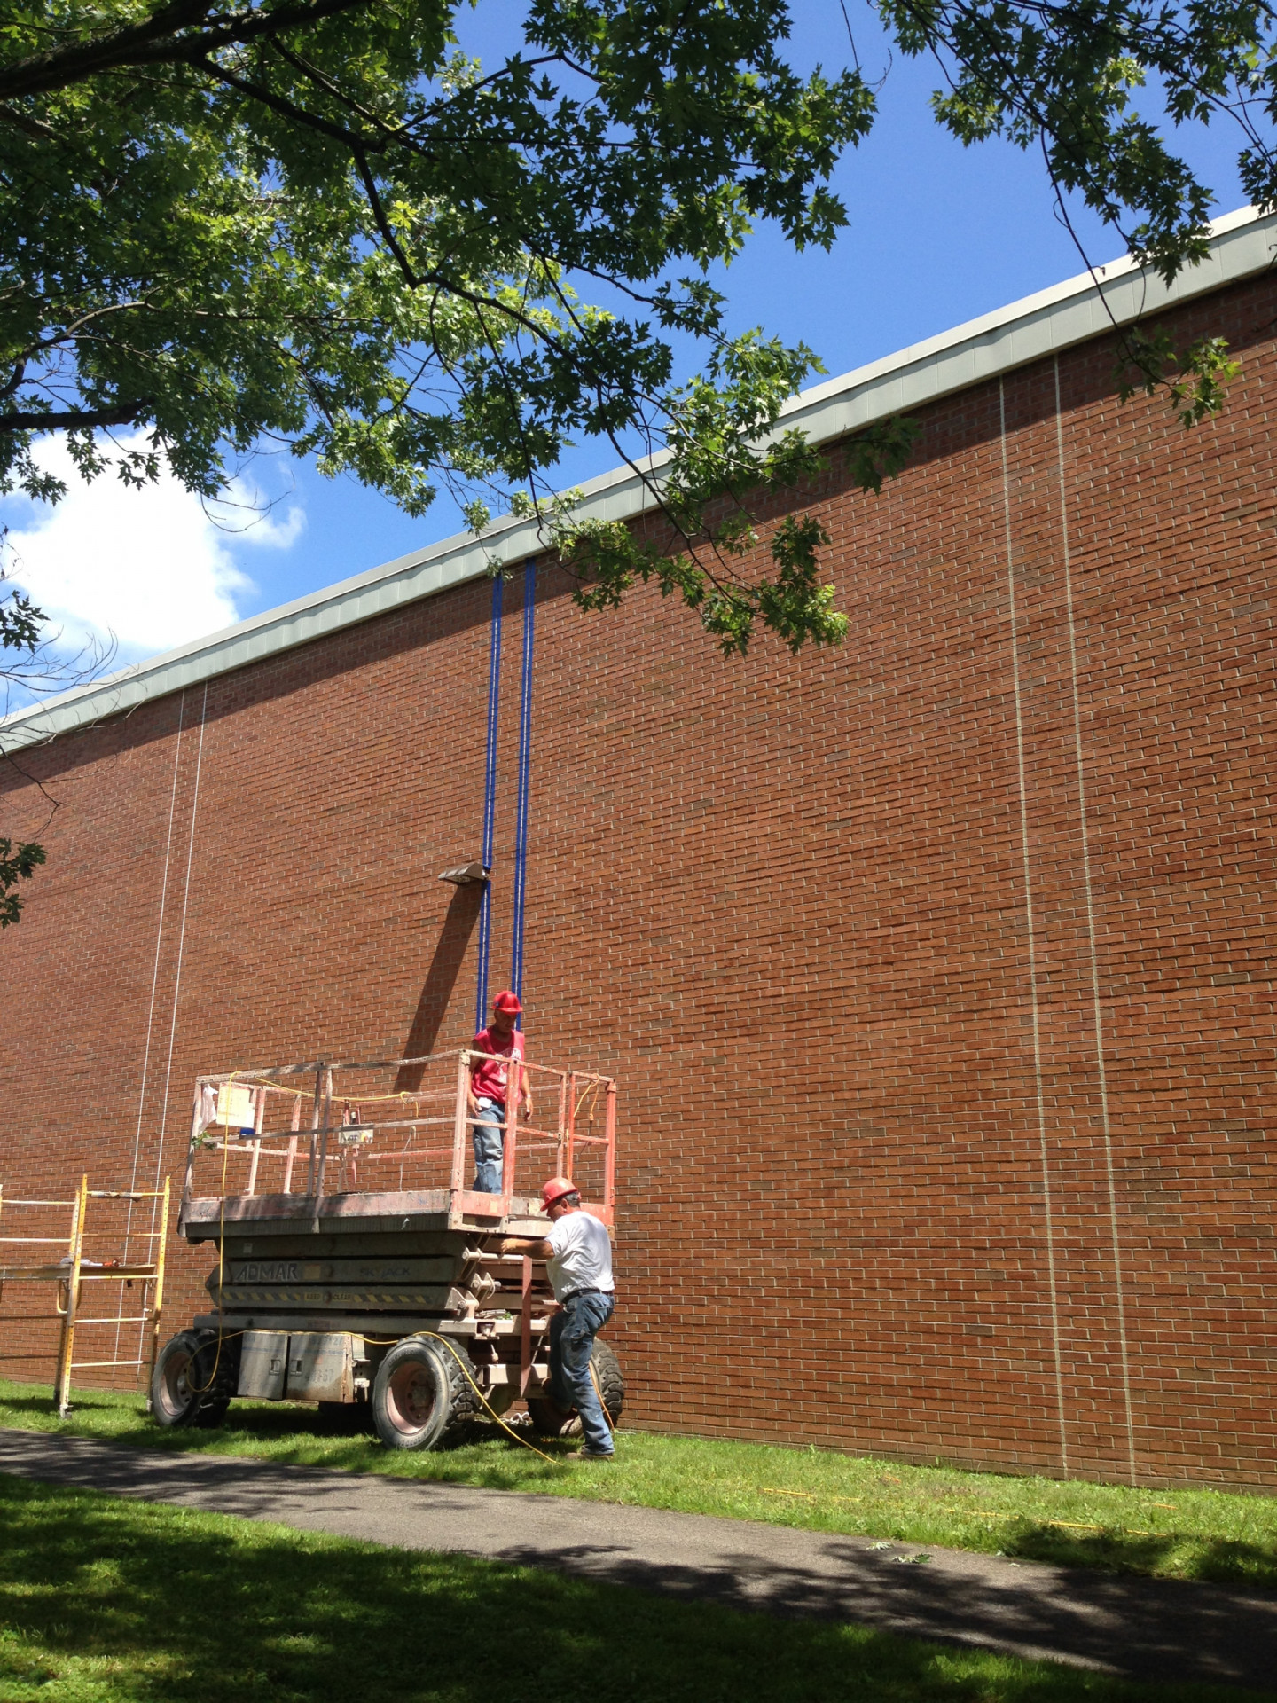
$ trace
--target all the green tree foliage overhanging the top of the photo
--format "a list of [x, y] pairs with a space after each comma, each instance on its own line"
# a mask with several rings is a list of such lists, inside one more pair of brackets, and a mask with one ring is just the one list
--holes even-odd
[[[1168, 126], [1240, 123], [1243, 181], [1277, 199], [1267, 5], [877, 12], [935, 56], [943, 124], [1040, 148], [1057, 192], [1166, 278], [1202, 255], [1211, 199]], [[208, 494], [274, 439], [412, 514], [439, 485], [475, 526], [492, 501], [531, 506], [589, 605], [656, 577], [727, 651], [758, 622], [836, 640], [819, 521], [776, 530], [759, 574], [749, 509], [819, 467], [778, 429], [819, 363], [729, 335], [708, 272], [759, 220], [800, 249], [846, 223], [829, 175], [875, 116], [848, 44], [831, 34], [833, 68], [800, 77], [780, 0], [524, 0], [519, 49], [484, 66], [458, 15], [0, 0], [0, 489], [58, 496], [32, 458], [54, 429], [87, 473], [145, 480], [167, 458]], [[688, 337], [705, 363], [679, 383]], [[1217, 341], [1175, 351], [1156, 327], [1124, 356], [1127, 385], [1168, 388], [1185, 422], [1231, 371]], [[141, 448], [111, 441], [121, 426]], [[591, 436], [669, 453], [649, 477], [676, 548], [548, 501], [560, 453]], [[879, 427], [853, 475], [875, 489], [908, 443], [908, 422]]]

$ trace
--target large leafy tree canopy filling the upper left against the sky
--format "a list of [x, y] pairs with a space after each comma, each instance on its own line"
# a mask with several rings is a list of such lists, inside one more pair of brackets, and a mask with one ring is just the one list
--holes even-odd
[[[126, 479], [165, 455], [213, 494], [266, 436], [415, 514], [439, 482], [540, 502], [579, 438], [690, 441], [695, 419], [734, 444], [776, 417], [814, 358], [727, 337], [705, 271], [759, 218], [829, 245], [862, 77], [797, 77], [759, 0], [531, 0], [494, 68], [455, 10], [3, 7], [10, 484], [53, 494], [41, 431], [94, 473], [128, 424], [150, 439], [116, 453]], [[713, 356], [688, 392], [679, 334]]]

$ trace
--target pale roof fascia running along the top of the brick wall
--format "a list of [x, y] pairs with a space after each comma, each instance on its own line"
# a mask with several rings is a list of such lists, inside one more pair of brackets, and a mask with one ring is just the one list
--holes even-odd
[[[1207, 259], [1187, 267], [1173, 284], [1165, 284], [1131, 259], [1114, 261], [804, 390], [785, 405], [776, 431], [800, 426], [814, 443], [843, 438], [873, 421], [925, 407], [1086, 342], [1114, 325], [1127, 325], [1255, 276], [1274, 266], [1275, 255], [1277, 215], [1241, 208], [1214, 221]], [[666, 460], [667, 455], [661, 453], [638, 465], [650, 475]], [[656, 506], [645, 482], [628, 467], [587, 480], [581, 494], [577, 513], [587, 519], [630, 519]], [[135, 662], [106, 679], [15, 710], [0, 719], [0, 751], [17, 751], [131, 710], [148, 698], [201, 685], [436, 591], [480, 579], [490, 562], [509, 565], [543, 548], [535, 519], [506, 516], [480, 536], [458, 533], [223, 632]]]

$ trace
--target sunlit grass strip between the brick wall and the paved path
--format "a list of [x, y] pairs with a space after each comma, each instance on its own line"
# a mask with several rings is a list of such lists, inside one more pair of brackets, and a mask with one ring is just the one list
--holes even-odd
[[141, 1396], [83, 1390], [60, 1420], [48, 1386], [7, 1383], [0, 1425], [1277, 1589], [1277, 1499], [1223, 1490], [1059, 1483], [642, 1431], [621, 1431], [616, 1465], [603, 1468], [576, 1465], [564, 1444], [541, 1444], [557, 1456], [547, 1465], [490, 1425], [400, 1454], [376, 1437], [334, 1436], [303, 1405], [235, 1402], [218, 1431], [158, 1431]]

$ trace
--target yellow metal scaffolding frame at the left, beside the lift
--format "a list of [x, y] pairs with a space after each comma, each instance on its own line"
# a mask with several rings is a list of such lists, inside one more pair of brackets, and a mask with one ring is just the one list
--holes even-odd
[[[160, 1202], [160, 1228], [158, 1230], [90, 1230], [89, 1228], [89, 1204], [90, 1201], [158, 1201]], [[3, 1184], [0, 1184], [0, 1218], [7, 1209], [14, 1207], [31, 1207], [41, 1211], [51, 1211], [58, 1207], [70, 1207], [72, 1223], [70, 1231], [65, 1236], [0, 1236], [0, 1296], [3, 1296], [3, 1286], [7, 1282], [54, 1282], [58, 1291], [54, 1294], [53, 1313], [0, 1313], [0, 1323], [3, 1325], [29, 1325], [41, 1318], [56, 1318], [60, 1322], [58, 1332], [58, 1361], [53, 1374], [53, 1396], [58, 1403], [58, 1412], [65, 1417], [70, 1412], [70, 1393], [72, 1393], [72, 1373], [73, 1371], [106, 1371], [121, 1366], [133, 1366], [138, 1371], [148, 1368], [148, 1374], [155, 1371], [155, 1356], [160, 1349], [160, 1313], [163, 1310], [163, 1247], [169, 1235], [169, 1178], [163, 1178], [163, 1189], [150, 1190], [129, 1190], [129, 1189], [90, 1189], [89, 1177], [80, 1178], [80, 1187], [75, 1192], [73, 1201], [14, 1201], [5, 1199]], [[131, 1240], [140, 1240], [148, 1243], [150, 1259], [145, 1262], [136, 1260], [95, 1260], [85, 1257], [85, 1241], [100, 1240], [111, 1236], [123, 1236], [124, 1247]], [[9, 1265], [5, 1262], [5, 1250], [10, 1245], [20, 1247], [65, 1247], [66, 1253], [56, 1264], [39, 1264], [39, 1265]], [[121, 1289], [121, 1311], [107, 1318], [89, 1318], [83, 1315], [83, 1286], [87, 1282], [119, 1282], [133, 1284], [141, 1281], [141, 1311], [124, 1313], [124, 1293]], [[77, 1330], [100, 1328], [114, 1325], [116, 1327], [116, 1344], [119, 1344], [119, 1330], [124, 1325], [141, 1325], [150, 1330], [150, 1349], [145, 1347], [145, 1333], [138, 1342], [140, 1354], [135, 1359], [111, 1359], [111, 1361], [77, 1361], [75, 1359], [75, 1333]], [[34, 1359], [32, 1354], [0, 1354], [0, 1361], [29, 1361]], [[150, 1388], [150, 1376], [146, 1379]]]

